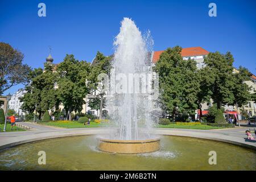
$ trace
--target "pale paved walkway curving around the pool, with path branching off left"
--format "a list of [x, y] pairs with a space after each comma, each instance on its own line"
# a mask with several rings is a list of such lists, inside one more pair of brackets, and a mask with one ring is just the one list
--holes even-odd
[[[37, 126], [38, 124], [30, 123], [38, 130], [34, 131], [16, 131], [0, 133], [0, 149], [15, 146], [22, 143], [34, 142], [43, 139], [77, 136], [77, 135], [94, 135], [106, 134], [106, 128], [79, 128], [79, 129], [53, 129], [46, 126]], [[252, 129], [252, 128], [251, 128]], [[192, 129], [163, 129], [156, 128], [152, 133], [159, 135], [176, 135], [183, 137], [195, 137], [203, 139], [218, 140], [236, 144], [238, 146], [248, 147], [256, 150], [256, 141], [247, 141], [245, 130], [247, 127], [220, 129], [220, 130], [192, 130]]]

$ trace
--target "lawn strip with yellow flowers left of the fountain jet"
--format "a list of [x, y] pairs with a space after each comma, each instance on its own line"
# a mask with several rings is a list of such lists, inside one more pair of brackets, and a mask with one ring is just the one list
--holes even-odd
[[74, 129], [79, 127], [104, 127], [105, 123], [90, 122], [90, 125], [84, 125], [76, 121], [50, 121], [50, 122], [38, 122], [40, 125], [64, 127], [66, 129]]

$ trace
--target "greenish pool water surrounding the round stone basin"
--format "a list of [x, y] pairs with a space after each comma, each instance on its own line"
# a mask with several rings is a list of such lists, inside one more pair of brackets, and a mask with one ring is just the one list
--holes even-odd
[[[255, 170], [256, 152], [211, 140], [163, 136], [161, 149], [139, 155], [97, 150], [95, 136], [66, 137], [22, 144], [0, 152], [1, 170]], [[46, 152], [46, 165], [38, 152]], [[217, 164], [209, 165], [209, 151]]]

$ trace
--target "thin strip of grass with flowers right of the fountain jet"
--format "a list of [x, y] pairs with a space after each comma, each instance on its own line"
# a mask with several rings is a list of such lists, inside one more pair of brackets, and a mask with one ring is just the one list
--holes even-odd
[[217, 126], [209, 126], [209, 125], [158, 125], [156, 127], [163, 127], [163, 128], [171, 128], [171, 129], [196, 129], [196, 130], [212, 130], [212, 129], [220, 129], [224, 127], [217, 127]]

